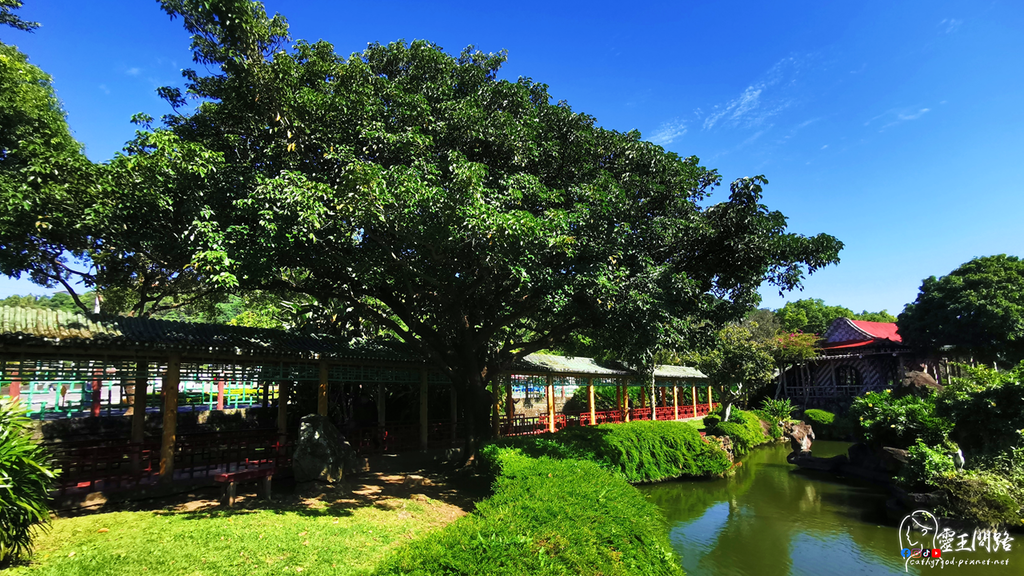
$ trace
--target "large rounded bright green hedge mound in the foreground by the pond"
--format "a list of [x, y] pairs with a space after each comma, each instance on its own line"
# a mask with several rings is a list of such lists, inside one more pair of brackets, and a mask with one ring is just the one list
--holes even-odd
[[380, 575], [681, 575], [665, 518], [594, 462], [489, 446], [494, 495], [400, 549]]

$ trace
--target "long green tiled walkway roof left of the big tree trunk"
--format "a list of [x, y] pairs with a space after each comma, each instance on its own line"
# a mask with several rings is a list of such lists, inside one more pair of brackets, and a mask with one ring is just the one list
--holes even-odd
[[229, 354], [322, 354], [334, 358], [414, 360], [394, 346], [377, 342], [343, 342], [326, 335], [10, 306], [0, 306], [0, 343], [117, 345]]

